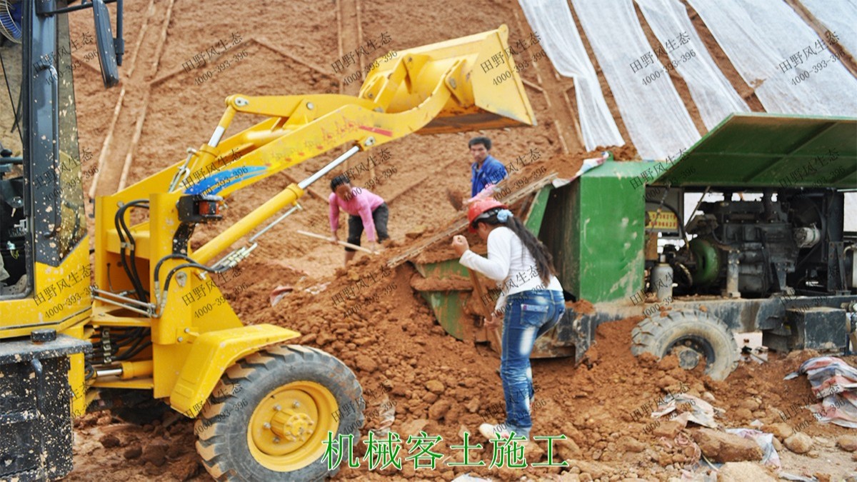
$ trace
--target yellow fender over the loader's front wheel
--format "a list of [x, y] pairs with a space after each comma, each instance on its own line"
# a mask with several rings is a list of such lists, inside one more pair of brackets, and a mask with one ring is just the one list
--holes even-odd
[[297, 331], [269, 324], [201, 334], [194, 341], [172, 390], [170, 406], [187, 417], [196, 417], [220, 377], [239, 358], [297, 336], [300, 336]]

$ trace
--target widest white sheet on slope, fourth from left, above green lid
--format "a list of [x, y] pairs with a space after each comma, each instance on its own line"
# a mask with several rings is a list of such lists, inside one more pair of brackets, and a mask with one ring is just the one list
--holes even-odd
[[756, 87], [766, 111], [829, 116], [857, 112], [857, 79], [842, 62], [833, 61], [818, 34], [786, 3], [688, 1], [744, 81]]

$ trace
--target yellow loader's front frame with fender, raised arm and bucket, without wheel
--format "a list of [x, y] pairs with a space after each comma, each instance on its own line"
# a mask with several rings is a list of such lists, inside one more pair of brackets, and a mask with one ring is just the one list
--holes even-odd
[[[379, 59], [357, 97], [231, 95], [209, 142], [191, 150], [187, 160], [112, 196], [99, 197], [94, 271], [98, 286], [103, 290], [110, 286], [110, 293], [97, 296], [93, 322], [151, 329], [151, 351], [135, 358], [153, 359], [153, 365], [144, 365], [151, 371], [146, 374], [151, 378], [145, 387], [151, 386], [156, 397], [170, 396], [174, 408], [194, 416], [226, 366], [246, 356], [248, 350], [297, 335], [273, 325], [256, 325], [245, 342], [237, 340], [240, 330], [235, 328], [242, 323], [228, 304], [203, 314], [199, 309], [207, 305], [206, 299], [199, 300], [196, 295], [202, 292], [219, 297], [218, 287], [204, 272], [235, 266], [255, 245], [211, 262], [273, 215], [293, 206], [309, 184], [339, 163], [361, 150], [412, 133], [535, 124], [524, 85], [506, 53], [507, 36], [506, 26], [501, 26], [462, 39], [389, 52], [386, 62]], [[236, 114], [266, 118], [225, 137]], [[205, 221], [189, 222], [181, 212], [182, 202], [189, 198], [217, 202], [217, 198], [206, 196], [228, 197], [342, 145], [351, 148], [320, 172], [291, 184], [198, 250], [189, 248], [196, 222]], [[131, 208], [147, 209], [149, 220], [126, 231], [119, 221], [126, 219]], [[124, 256], [130, 250], [134, 252], [133, 262]], [[126, 267], [133, 264], [140, 279], [131, 280], [119, 270], [123, 263]], [[108, 269], [112, 271], [108, 273]], [[145, 299], [128, 301], [112, 296], [139, 293], [140, 287], [148, 292]], [[212, 332], [221, 332], [225, 338]], [[199, 346], [189, 346], [195, 342]], [[217, 363], [207, 363], [212, 359]], [[95, 385], [103, 383], [99, 380]], [[125, 382], [110, 383], [119, 386]], [[135, 386], [145, 388], [139, 379]]]

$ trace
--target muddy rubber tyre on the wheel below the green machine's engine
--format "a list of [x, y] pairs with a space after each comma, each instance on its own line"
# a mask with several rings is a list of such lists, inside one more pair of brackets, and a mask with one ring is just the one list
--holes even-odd
[[[702, 348], [705, 374], [723, 380], [738, 367], [738, 344], [726, 323], [702, 311], [670, 311], [639, 322], [631, 332], [631, 352], [666, 356], [680, 343]], [[696, 350], [698, 351], [698, 350]]]

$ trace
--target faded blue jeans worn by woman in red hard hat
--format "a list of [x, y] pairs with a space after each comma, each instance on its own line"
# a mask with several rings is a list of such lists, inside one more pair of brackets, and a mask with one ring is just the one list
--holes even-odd
[[530, 290], [506, 298], [500, 378], [506, 398], [506, 429], [530, 437], [533, 373], [530, 353], [536, 338], [554, 328], [566, 311], [562, 292]]

